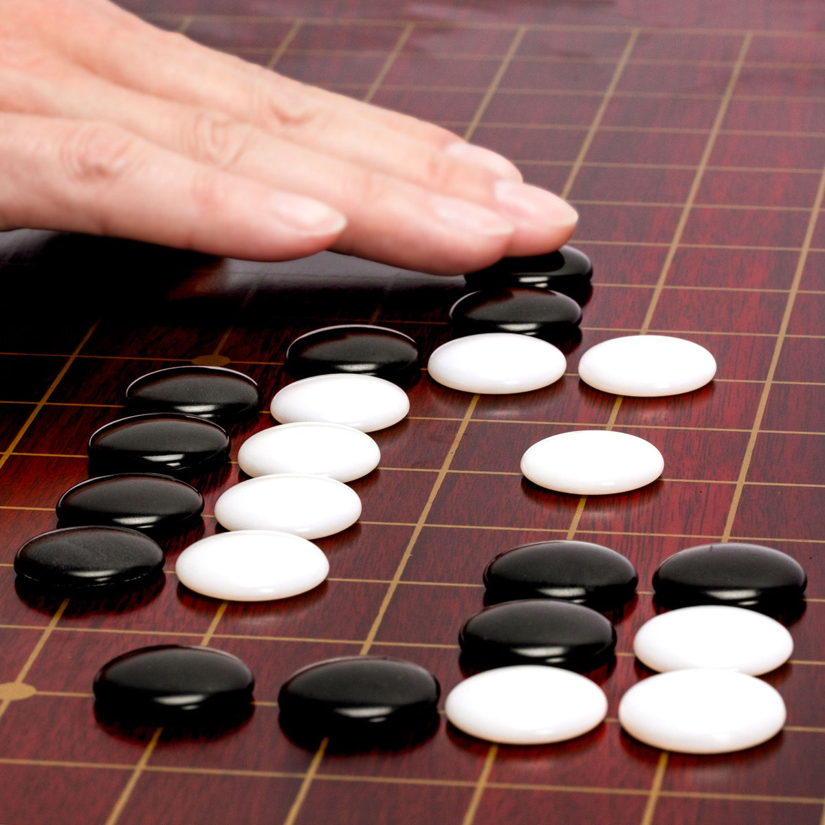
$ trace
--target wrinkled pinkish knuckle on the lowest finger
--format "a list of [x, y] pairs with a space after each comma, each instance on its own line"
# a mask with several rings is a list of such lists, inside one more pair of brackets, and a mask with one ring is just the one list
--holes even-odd
[[103, 123], [85, 123], [69, 135], [61, 151], [64, 170], [73, 181], [106, 184], [126, 177], [137, 162], [134, 136]]

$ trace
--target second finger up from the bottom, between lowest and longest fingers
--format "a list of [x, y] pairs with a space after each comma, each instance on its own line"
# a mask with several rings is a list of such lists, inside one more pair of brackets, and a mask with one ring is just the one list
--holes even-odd
[[59, 96], [43, 78], [0, 82], [0, 106], [80, 120], [104, 117], [190, 161], [309, 196], [347, 215], [335, 248], [426, 271], [479, 268], [501, 257], [512, 224], [467, 201], [370, 172], [271, 137], [226, 115], [115, 87], [62, 67]]

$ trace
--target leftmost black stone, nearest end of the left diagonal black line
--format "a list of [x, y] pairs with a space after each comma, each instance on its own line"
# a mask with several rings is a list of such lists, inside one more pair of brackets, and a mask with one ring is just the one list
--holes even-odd
[[132, 590], [163, 571], [163, 550], [148, 536], [115, 527], [67, 527], [36, 535], [17, 550], [20, 583], [46, 593]]

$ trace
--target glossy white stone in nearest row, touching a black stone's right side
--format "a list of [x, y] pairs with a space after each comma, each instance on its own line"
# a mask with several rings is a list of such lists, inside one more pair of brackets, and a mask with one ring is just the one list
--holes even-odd
[[559, 667], [496, 667], [470, 676], [447, 696], [447, 719], [464, 733], [509, 745], [563, 742], [607, 714], [601, 687]]

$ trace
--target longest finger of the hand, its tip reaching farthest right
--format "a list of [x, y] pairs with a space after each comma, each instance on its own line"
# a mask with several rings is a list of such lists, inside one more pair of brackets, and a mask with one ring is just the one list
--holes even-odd
[[[515, 227], [508, 254], [546, 252], [573, 233], [577, 214], [572, 207], [538, 187], [462, 160], [461, 153], [469, 157], [480, 150], [455, 136], [449, 145], [435, 147], [375, 119], [355, 116], [347, 106], [322, 105], [299, 83], [240, 61], [216, 59], [210, 50], [175, 35], [153, 31], [143, 36], [130, 30], [105, 40], [97, 54], [82, 44], [64, 47], [97, 73], [148, 95], [219, 109], [319, 153], [495, 210]], [[152, 72], [136, 68], [144, 66], [147, 57]], [[447, 138], [432, 140], [444, 144]]]

